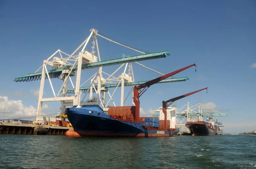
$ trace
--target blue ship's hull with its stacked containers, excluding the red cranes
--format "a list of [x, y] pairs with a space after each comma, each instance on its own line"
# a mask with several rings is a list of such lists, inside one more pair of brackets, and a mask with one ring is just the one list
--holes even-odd
[[99, 105], [66, 108], [73, 129], [68, 137], [170, 137], [179, 129], [163, 128], [163, 122], [153, 117], [140, 117], [134, 122], [135, 106], [110, 107], [105, 114]]

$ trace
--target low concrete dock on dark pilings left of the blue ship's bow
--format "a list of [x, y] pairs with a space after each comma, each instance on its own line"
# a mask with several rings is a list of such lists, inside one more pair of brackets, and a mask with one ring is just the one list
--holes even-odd
[[65, 135], [68, 130], [73, 130], [73, 127], [0, 122], [0, 134], [37, 135], [38, 128], [46, 128], [47, 135]]

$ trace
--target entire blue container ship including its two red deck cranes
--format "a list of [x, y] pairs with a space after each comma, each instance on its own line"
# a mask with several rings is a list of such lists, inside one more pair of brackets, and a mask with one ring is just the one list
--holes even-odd
[[170, 137], [179, 132], [179, 129], [170, 128], [170, 121], [167, 120], [166, 109], [176, 100], [197, 93], [207, 88], [163, 101], [164, 120], [157, 118], [140, 117], [140, 96], [141, 89], [149, 87], [169, 76], [190, 68], [189, 65], [175, 72], [163, 75], [159, 78], [134, 86], [133, 102], [135, 106], [109, 107], [108, 114], [97, 104], [73, 106], [65, 109], [65, 114], [74, 130], [66, 132], [68, 137]]

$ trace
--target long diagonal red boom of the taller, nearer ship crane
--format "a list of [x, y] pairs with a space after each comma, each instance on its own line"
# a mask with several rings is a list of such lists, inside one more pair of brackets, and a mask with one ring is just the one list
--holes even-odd
[[163, 75], [163, 76], [161, 76], [161, 77], [158, 77], [158, 78], [156, 78], [156, 79], [153, 79], [153, 80], [150, 80], [150, 81], [148, 81], [148, 82], [145, 82], [145, 83], [143, 83], [142, 85], [137, 86], [137, 87], [134, 87], [134, 88], [136, 88], [136, 89], [142, 89], [142, 88], [145, 88], [145, 87], [149, 87], [149, 86], [151, 86], [151, 85], [154, 85], [154, 84], [157, 83], [157, 82], [160, 82], [160, 81], [163, 80], [163, 79], [166, 79], [166, 78], [168, 78], [168, 77], [170, 77], [170, 76], [173, 76], [173, 75], [175, 75], [175, 74], [177, 74], [177, 73], [179, 73], [179, 72], [181, 72], [181, 71], [183, 71], [183, 70], [186, 70], [186, 69], [188, 69], [188, 68], [190, 68], [190, 67], [192, 67], [192, 66], [195, 66], [195, 67], [196, 67], [195, 63], [192, 64], [192, 65], [189, 65], [189, 66], [187, 66], [187, 67], [185, 67], [185, 68], [181, 68], [181, 69], [176, 70], [176, 71], [174, 71], [174, 72], [168, 73], [168, 74]]

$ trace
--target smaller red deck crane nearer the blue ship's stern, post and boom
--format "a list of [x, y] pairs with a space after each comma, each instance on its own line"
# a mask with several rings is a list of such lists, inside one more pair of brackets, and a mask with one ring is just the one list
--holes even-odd
[[[175, 97], [175, 98], [172, 98], [172, 99], [167, 100], [167, 101], [163, 101], [162, 103], [163, 103], [163, 114], [164, 114], [164, 129], [166, 130], [166, 126], [167, 126], [167, 111], [166, 111], [166, 109], [167, 109], [174, 101], [179, 100], [179, 99], [182, 99], [182, 98], [184, 98], [184, 97], [186, 97], [186, 96], [189, 96], [189, 95], [198, 93], [198, 92], [200, 92], [200, 91], [202, 91], [202, 90], [205, 90], [205, 89], [207, 90], [208, 87], [203, 88], [203, 89], [200, 89], [200, 90], [196, 90], [196, 91], [194, 91], [194, 92], [187, 93], [187, 94], [184, 94], [184, 95]], [[168, 105], [167, 105], [167, 104], [168, 104]]]

